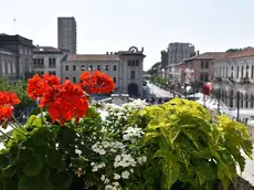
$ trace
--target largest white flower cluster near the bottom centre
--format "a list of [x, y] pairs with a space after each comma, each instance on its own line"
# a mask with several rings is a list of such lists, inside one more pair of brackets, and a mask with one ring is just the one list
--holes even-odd
[[131, 167], [136, 166], [136, 161], [131, 157], [131, 155], [121, 154], [121, 155], [116, 156], [115, 162], [114, 162], [115, 168], [118, 168], [118, 167], [127, 168], [129, 166]]

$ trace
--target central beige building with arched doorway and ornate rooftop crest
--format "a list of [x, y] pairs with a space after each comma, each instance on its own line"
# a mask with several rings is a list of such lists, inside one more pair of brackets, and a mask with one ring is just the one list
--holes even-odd
[[80, 82], [84, 71], [98, 70], [113, 77], [115, 93], [142, 95], [144, 50], [131, 46], [128, 51], [106, 54], [68, 54], [63, 61], [63, 78]]

